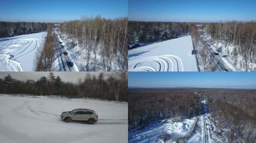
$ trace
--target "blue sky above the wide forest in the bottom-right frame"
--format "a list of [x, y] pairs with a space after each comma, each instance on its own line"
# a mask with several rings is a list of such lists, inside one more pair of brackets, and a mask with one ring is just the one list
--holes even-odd
[[128, 86], [256, 89], [256, 72], [129, 72]]

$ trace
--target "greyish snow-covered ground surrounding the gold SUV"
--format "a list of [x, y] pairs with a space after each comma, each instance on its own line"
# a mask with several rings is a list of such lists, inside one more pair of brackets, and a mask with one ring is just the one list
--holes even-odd
[[[128, 142], [128, 103], [46, 96], [0, 95], [1, 143], [125, 143]], [[98, 122], [65, 123], [61, 112], [89, 108]]]

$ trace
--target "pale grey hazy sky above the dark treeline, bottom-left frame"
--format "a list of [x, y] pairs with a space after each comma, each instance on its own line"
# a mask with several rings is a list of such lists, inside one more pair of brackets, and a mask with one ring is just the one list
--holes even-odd
[[[81, 78], [85, 78], [86, 74], [91, 74], [91, 75], [95, 75], [96, 77], [101, 73], [100, 71], [96, 71], [96, 72], [52, 72], [54, 73], [55, 77], [60, 76], [62, 81], [65, 82], [73, 82], [76, 83], [77, 79]], [[36, 71], [36, 72], [4, 72], [1, 71], [0, 72], [0, 78], [3, 79], [5, 76], [7, 76], [7, 74], [10, 74], [13, 79], [18, 79], [18, 80], [27, 80], [27, 79], [33, 79], [33, 80], [37, 80], [42, 76], [46, 76], [48, 77], [49, 72], [46, 71]], [[117, 72], [103, 72], [104, 75], [110, 75], [112, 74], [113, 76], [117, 75]]]

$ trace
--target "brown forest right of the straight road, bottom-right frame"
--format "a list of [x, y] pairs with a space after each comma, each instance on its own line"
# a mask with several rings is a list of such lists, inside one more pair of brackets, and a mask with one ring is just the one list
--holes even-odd
[[225, 143], [256, 143], [256, 90], [202, 89], [218, 136]]

